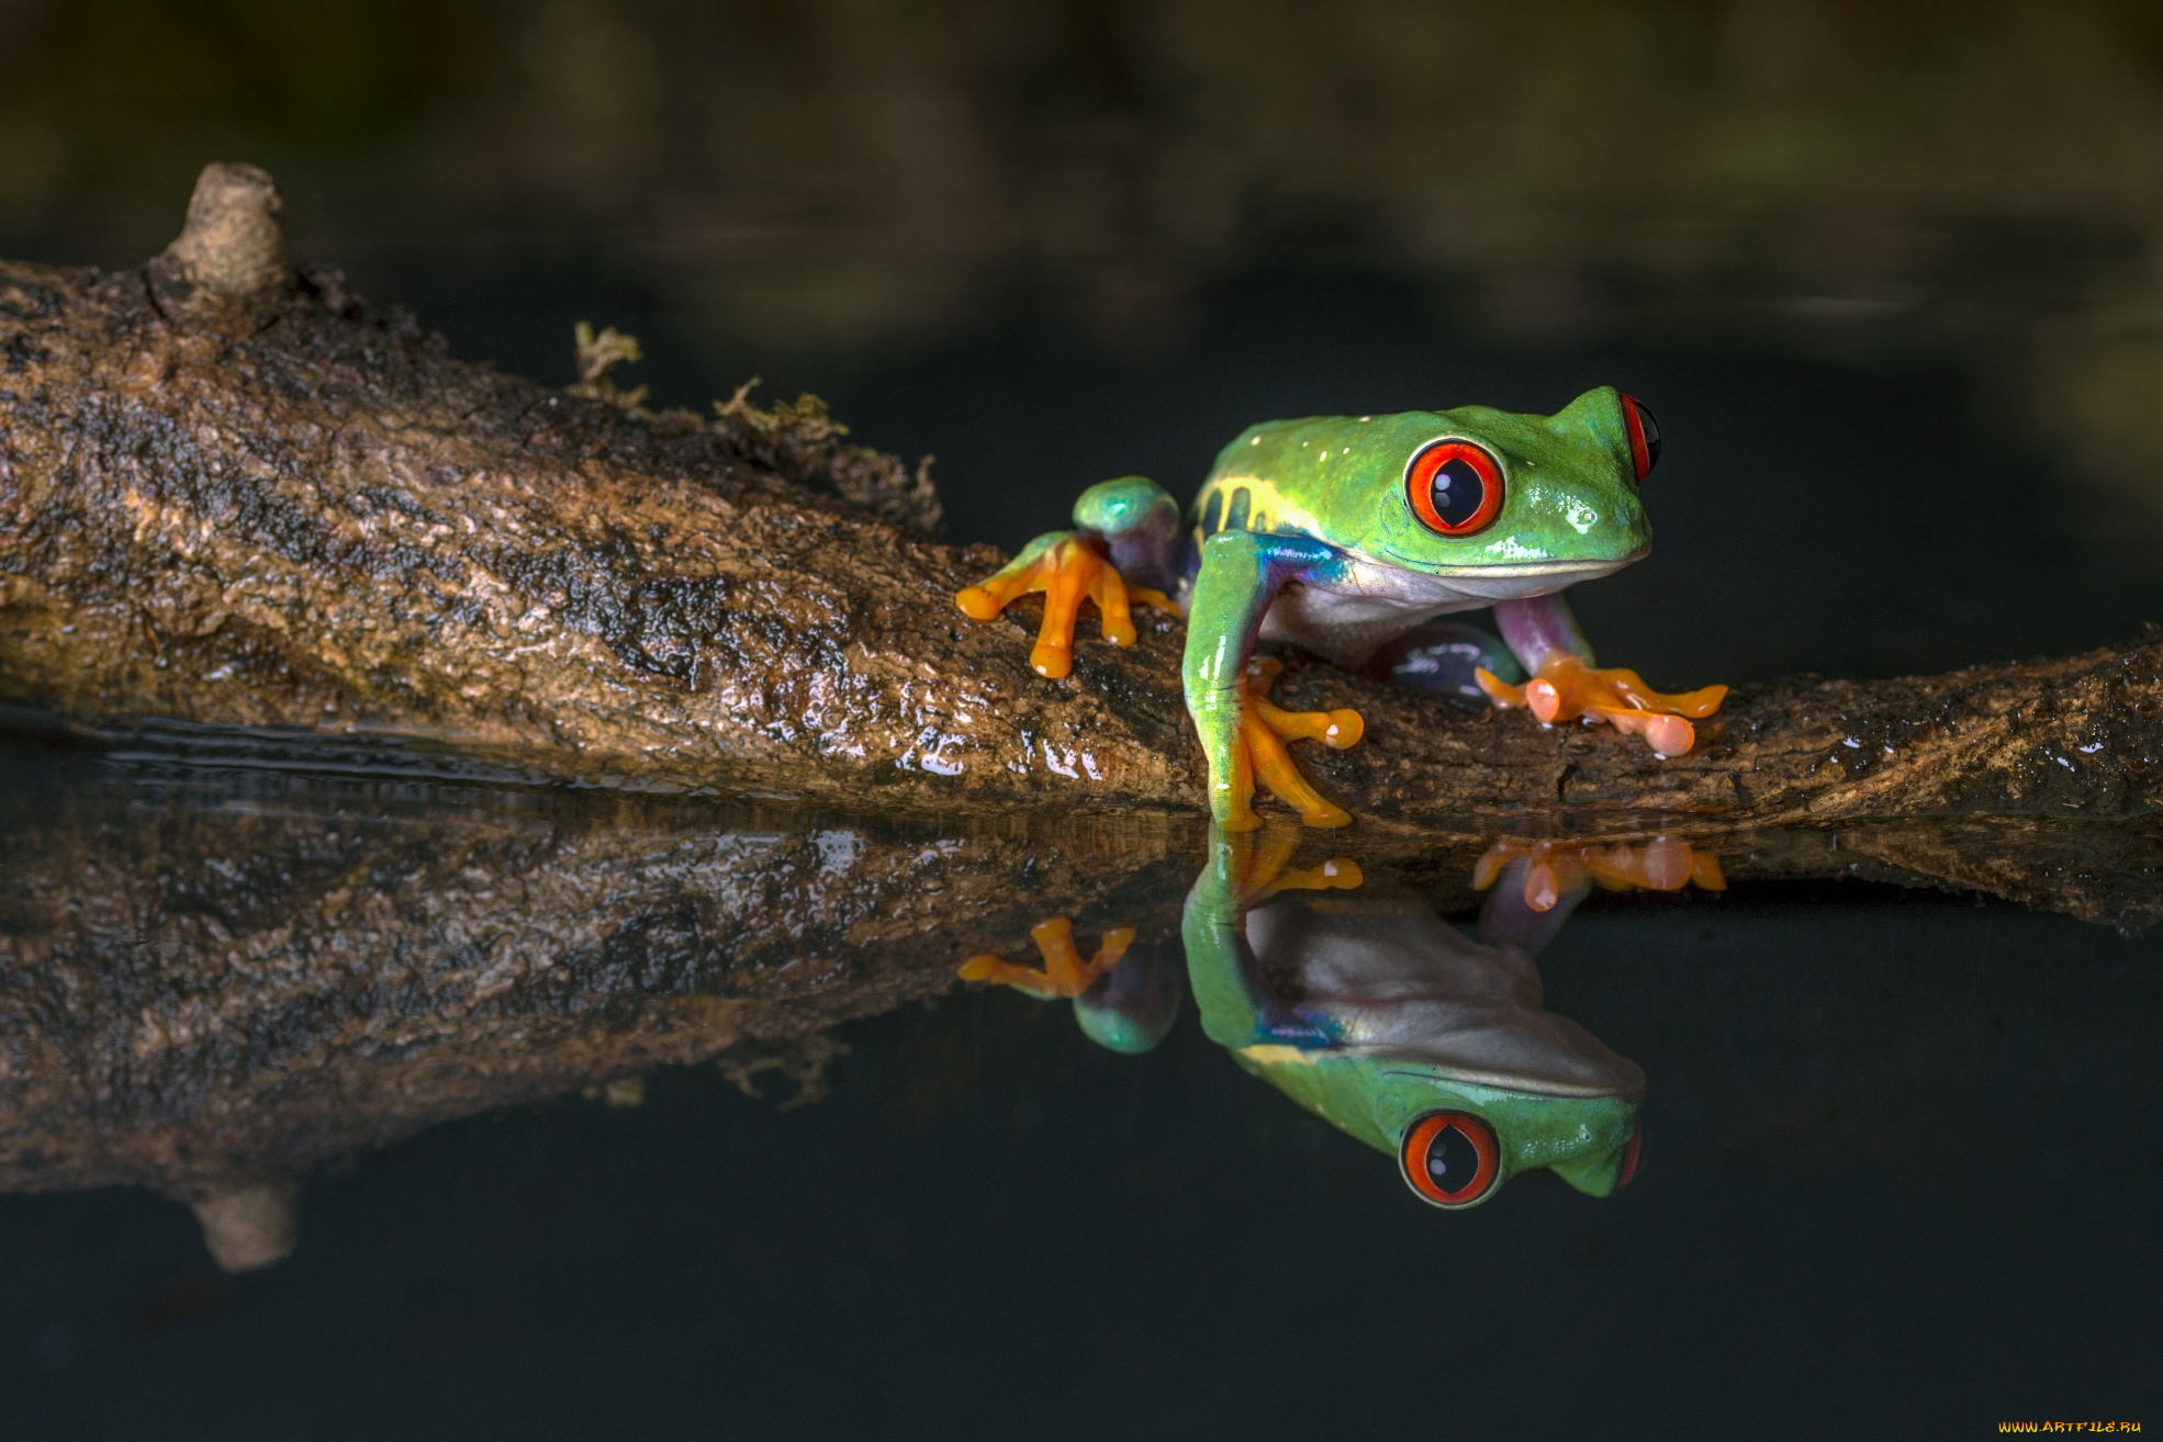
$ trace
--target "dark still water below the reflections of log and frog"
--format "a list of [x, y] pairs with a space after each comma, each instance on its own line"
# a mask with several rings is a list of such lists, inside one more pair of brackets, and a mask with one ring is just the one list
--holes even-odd
[[[1239, 1077], [1051, 1007], [861, 1023], [796, 1111], [437, 1129], [221, 1280], [141, 1191], [11, 1198], [15, 1436], [1955, 1436], [2154, 1399], [2157, 951], [1966, 904], [1585, 917], [1555, 1003], [1644, 1174], [1464, 1215]], [[2144, 1020], [2135, 1020], [2144, 1018]]]

